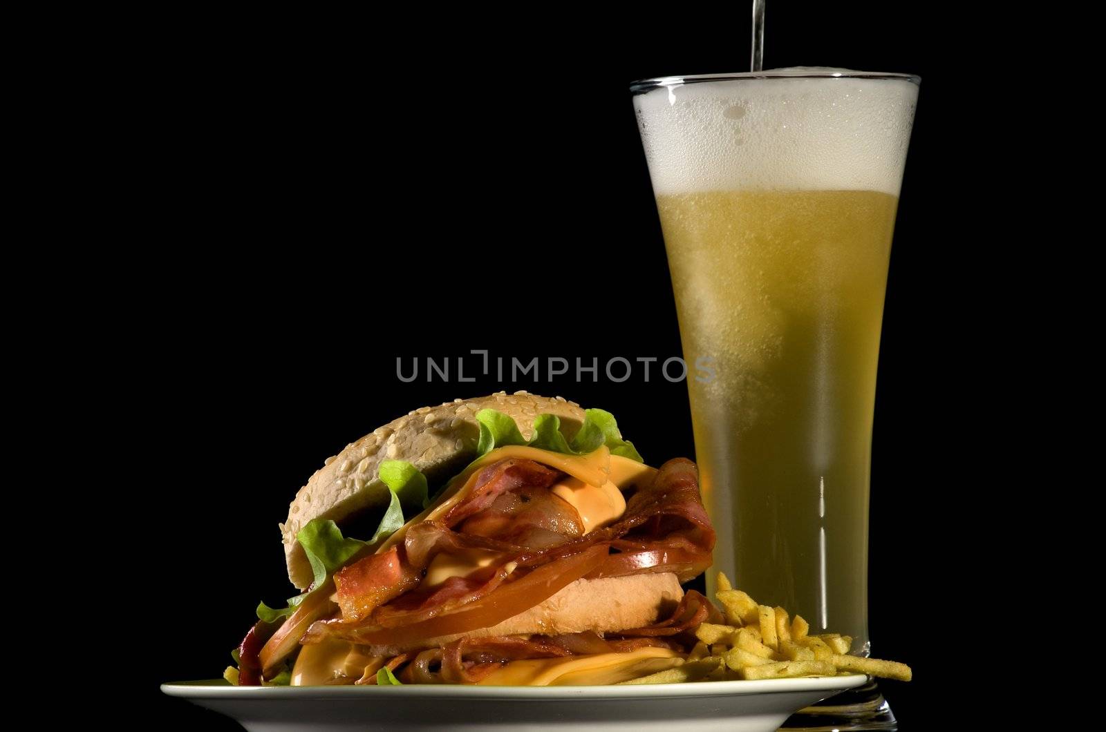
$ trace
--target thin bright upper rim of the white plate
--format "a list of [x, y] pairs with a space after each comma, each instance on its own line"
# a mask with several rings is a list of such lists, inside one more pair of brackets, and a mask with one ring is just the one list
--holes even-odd
[[[222, 679], [167, 681], [160, 686], [169, 697], [182, 699], [364, 699], [366, 694], [392, 697], [441, 697], [449, 699], [640, 699], [656, 697], [714, 697], [738, 694], [793, 693], [796, 691], [844, 691], [863, 686], [863, 673], [801, 677], [796, 679], [757, 679], [754, 681], [689, 681], [684, 683], [640, 683], [578, 687], [480, 687], [470, 684], [404, 684], [398, 687], [232, 687]], [[368, 691], [372, 689], [373, 691]]]

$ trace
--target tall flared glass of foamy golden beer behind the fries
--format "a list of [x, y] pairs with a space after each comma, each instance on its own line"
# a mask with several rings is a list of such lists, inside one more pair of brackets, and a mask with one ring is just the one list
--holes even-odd
[[860, 655], [876, 363], [918, 83], [804, 67], [632, 87], [700, 374], [714, 569]]

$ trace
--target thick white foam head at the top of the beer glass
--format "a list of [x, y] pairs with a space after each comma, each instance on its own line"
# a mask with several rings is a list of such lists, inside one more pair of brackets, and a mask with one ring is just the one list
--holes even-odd
[[[816, 73], [817, 79], [804, 77]], [[876, 190], [898, 196], [918, 85], [778, 69], [634, 97], [654, 191]], [[692, 81], [695, 76], [685, 77]]]

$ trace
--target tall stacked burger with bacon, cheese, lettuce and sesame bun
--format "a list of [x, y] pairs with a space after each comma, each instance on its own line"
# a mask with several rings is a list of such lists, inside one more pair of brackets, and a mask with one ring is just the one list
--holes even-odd
[[258, 606], [231, 683], [617, 683], [720, 621], [681, 588], [714, 545], [695, 463], [651, 468], [561, 397], [416, 409], [327, 459], [281, 531], [301, 592]]

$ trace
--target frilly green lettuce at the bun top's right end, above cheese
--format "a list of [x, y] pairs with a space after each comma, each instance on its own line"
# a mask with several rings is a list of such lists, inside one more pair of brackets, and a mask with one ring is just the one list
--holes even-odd
[[585, 409], [584, 423], [580, 431], [568, 442], [561, 431], [561, 419], [556, 415], [539, 415], [534, 419], [534, 436], [529, 442], [519, 431], [514, 420], [494, 409], [481, 409], [477, 412], [480, 423], [480, 440], [477, 442], [477, 457], [488, 454], [495, 448], [509, 445], [528, 445], [543, 450], [565, 454], [584, 454], [594, 452], [606, 445], [611, 454], [645, 462], [633, 442], [624, 440], [618, 431], [618, 422], [614, 415], [603, 409]]

